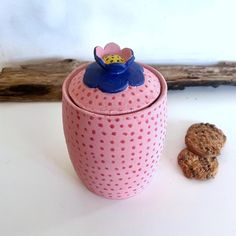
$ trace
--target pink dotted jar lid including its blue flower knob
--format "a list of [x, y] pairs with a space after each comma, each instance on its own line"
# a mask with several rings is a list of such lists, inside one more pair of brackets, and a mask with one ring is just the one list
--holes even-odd
[[150, 106], [160, 95], [159, 78], [134, 62], [131, 49], [109, 43], [94, 49], [96, 62], [81, 67], [68, 87], [73, 102], [87, 111], [120, 115]]

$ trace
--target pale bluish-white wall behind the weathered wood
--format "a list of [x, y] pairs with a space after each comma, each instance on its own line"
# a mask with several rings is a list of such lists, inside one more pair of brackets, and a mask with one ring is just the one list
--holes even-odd
[[236, 60], [234, 0], [0, 0], [0, 67], [92, 59], [115, 41], [143, 62]]

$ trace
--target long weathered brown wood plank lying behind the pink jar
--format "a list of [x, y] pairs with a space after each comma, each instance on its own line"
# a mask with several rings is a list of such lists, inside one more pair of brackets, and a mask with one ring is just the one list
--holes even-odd
[[[58, 101], [64, 79], [81, 63], [66, 59], [4, 68], [0, 73], [0, 101]], [[152, 66], [164, 75], [169, 89], [236, 85], [236, 62]]]

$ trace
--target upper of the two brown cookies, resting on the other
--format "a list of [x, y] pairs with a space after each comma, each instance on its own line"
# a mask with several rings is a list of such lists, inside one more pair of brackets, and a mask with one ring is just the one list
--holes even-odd
[[218, 156], [225, 141], [222, 130], [209, 123], [191, 125], [185, 136], [188, 149], [201, 157]]

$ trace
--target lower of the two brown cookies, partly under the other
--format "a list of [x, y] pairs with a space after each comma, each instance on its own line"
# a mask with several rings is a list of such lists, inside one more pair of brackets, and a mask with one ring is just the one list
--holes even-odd
[[178, 164], [187, 178], [206, 180], [216, 175], [218, 161], [216, 157], [202, 157], [187, 148], [178, 155]]

